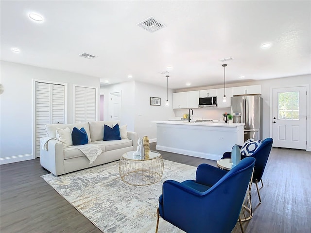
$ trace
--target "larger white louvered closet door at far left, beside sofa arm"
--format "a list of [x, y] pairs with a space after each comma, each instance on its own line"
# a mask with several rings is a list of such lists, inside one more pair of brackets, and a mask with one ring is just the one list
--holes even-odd
[[40, 157], [40, 138], [46, 124], [65, 123], [65, 85], [35, 83], [35, 157]]

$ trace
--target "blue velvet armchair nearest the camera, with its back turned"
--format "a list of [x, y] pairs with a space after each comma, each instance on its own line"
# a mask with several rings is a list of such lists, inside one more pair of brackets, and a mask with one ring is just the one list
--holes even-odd
[[[159, 216], [187, 233], [230, 233], [250, 183], [254, 158], [243, 159], [230, 171], [201, 164], [196, 179], [163, 183]], [[241, 229], [242, 224], [240, 221]]]

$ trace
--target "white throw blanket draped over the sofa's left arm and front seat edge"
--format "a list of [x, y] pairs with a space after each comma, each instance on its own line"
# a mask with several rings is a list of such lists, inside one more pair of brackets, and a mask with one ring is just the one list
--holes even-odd
[[[52, 139], [57, 140], [57, 138], [54, 138], [54, 137], [41, 138], [41, 140], [40, 140], [41, 149], [42, 150], [48, 150], [48, 141], [50, 141]], [[102, 149], [99, 146], [92, 145], [92, 144], [86, 144], [86, 145], [80, 145], [80, 146], [69, 146], [66, 148], [75, 148], [75, 149], [80, 150], [82, 153], [84, 153], [86, 158], [88, 158], [89, 164], [93, 164], [95, 162], [95, 160], [97, 159], [98, 155], [100, 155], [102, 153]]]

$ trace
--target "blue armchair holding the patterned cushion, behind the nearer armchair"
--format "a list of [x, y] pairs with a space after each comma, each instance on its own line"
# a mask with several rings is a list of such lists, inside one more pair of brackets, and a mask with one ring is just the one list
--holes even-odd
[[[272, 138], [268, 137], [264, 139], [261, 145], [259, 146], [259, 148], [255, 150], [255, 152], [252, 155], [249, 156], [249, 157], [253, 157], [256, 159], [252, 182], [256, 184], [259, 202], [261, 202], [261, 198], [259, 194], [258, 183], [259, 181], [261, 181], [261, 185], [263, 186], [263, 182], [261, 178], [262, 178], [262, 174], [264, 172], [264, 169], [266, 167], [266, 164], [267, 164], [267, 161], [270, 155], [272, 143], [273, 143]], [[239, 147], [241, 148], [241, 146]], [[231, 152], [225, 152], [222, 159], [225, 159], [225, 158], [231, 158]], [[243, 160], [244, 158], [247, 158], [247, 156], [241, 155], [241, 159]]]

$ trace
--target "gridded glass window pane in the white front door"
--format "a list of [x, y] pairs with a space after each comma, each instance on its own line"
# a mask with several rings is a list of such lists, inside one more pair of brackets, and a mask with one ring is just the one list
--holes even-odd
[[278, 116], [279, 120], [299, 120], [299, 92], [278, 93]]

